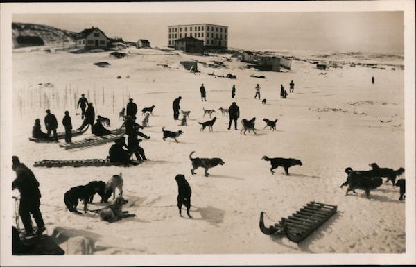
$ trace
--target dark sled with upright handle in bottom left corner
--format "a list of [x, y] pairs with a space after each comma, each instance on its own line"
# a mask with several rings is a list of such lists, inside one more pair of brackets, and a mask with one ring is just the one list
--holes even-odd
[[[20, 227], [19, 198], [15, 199], [15, 226], [12, 226], [12, 255], [64, 255], [65, 251], [47, 234], [26, 236]], [[33, 230], [37, 230], [33, 227]]]

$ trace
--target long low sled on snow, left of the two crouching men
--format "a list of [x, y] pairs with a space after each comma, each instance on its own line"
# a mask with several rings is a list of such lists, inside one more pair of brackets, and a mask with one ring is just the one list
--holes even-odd
[[[135, 163], [140, 163], [138, 161], [134, 161]], [[103, 159], [88, 159], [88, 160], [41, 160], [40, 162], [35, 162], [33, 164], [34, 167], [87, 167], [87, 166], [130, 166], [123, 165], [121, 163], [110, 162], [109, 160]]]

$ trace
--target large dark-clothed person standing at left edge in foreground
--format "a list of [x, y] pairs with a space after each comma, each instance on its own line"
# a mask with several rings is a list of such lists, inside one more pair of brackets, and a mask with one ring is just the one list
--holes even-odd
[[19, 215], [26, 236], [33, 235], [31, 214], [37, 225], [35, 234], [40, 235], [46, 229], [39, 209], [41, 198], [39, 182], [37, 182], [31, 169], [21, 163], [17, 156], [12, 157], [12, 169], [16, 173], [16, 179], [12, 182], [12, 189], [19, 189], [20, 192]]

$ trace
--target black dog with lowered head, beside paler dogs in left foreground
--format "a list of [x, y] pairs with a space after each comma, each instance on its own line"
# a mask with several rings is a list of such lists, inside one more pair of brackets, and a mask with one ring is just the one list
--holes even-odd
[[[104, 183], [105, 188], [105, 183]], [[67, 208], [69, 209], [69, 212], [75, 212], [77, 214], [80, 214], [78, 210], [76, 209], [76, 206], [78, 205], [78, 200], [84, 201], [84, 212], [87, 213], [87, 203], [89, 203], [89, 200], [92, 200], [92, 197], [95, 193], [100, 194], [102, 197], [101, 200], [105, 201], [106, 195], [102, 189], [101, 182], [90, 182], [87, 185], [79, 185], [78, 187], [71, 187], [65, 194], [64, 194], [64, 203], [67, 205]], [[110, 195], [111, 196], [111, 195]], [[107, 198], [108, 199], [108, 198]]]

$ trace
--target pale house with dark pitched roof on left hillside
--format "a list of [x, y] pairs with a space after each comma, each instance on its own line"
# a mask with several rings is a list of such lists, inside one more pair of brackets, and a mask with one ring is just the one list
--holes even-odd
[[85, 49], [101, 48], [106, 49], [109, 44], [109, 38], [99, 28], [86, 28], [80, 32], [76, 39], [76, 47]]

